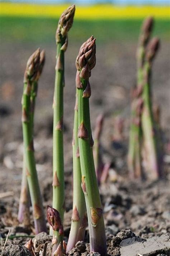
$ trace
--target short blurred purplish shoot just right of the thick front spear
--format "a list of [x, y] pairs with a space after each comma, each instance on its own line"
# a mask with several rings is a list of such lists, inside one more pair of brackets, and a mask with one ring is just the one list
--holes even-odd
[[98, 184], [100, 184], [100, 178], [101, 178], [101, 174], [104, 167], [104, 164], [101, 158], [101, 153], [100, 153], [100, 135], [103, 128], [103, 120], [104, 120], [104, 116], [103, 114], [100, 114], [96, 118], [95, 130], [94, 130], [93, 156], [94, 156], [94, 166], [95, 166]]

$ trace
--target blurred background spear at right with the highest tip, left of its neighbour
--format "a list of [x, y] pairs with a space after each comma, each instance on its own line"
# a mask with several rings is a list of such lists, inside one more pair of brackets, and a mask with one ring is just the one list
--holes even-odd
[[[150, 39], [153, 27], [153, 18], [148, 17], [142, 24], [141, 35], [137, 48], [137, 86], [134, 88], [131, 106], [131, 126], [129, 134], [128, 149], [128, 170], [131, 178], [142, 178], [141, 166], [141, 147], [142, 147], [142, 128], [141, 128], [141, 107], [143, 90], [143, 64], [145, 60], [145, 48]], [[140, 111], [139, 111], [140, 109]]]

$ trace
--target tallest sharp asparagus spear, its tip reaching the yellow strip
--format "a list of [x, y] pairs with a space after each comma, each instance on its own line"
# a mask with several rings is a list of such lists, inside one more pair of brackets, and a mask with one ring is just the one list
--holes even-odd
[[57, 56], [56, 79], [53, 99], [53, 208], [57, 209], [63, 221], [64, 215], [64, 159], [63, 159], [63, 87], [64, 53], [67, 49], [67, 33], [75, 13], [75, 5], [61, 15], [56, 31]]

